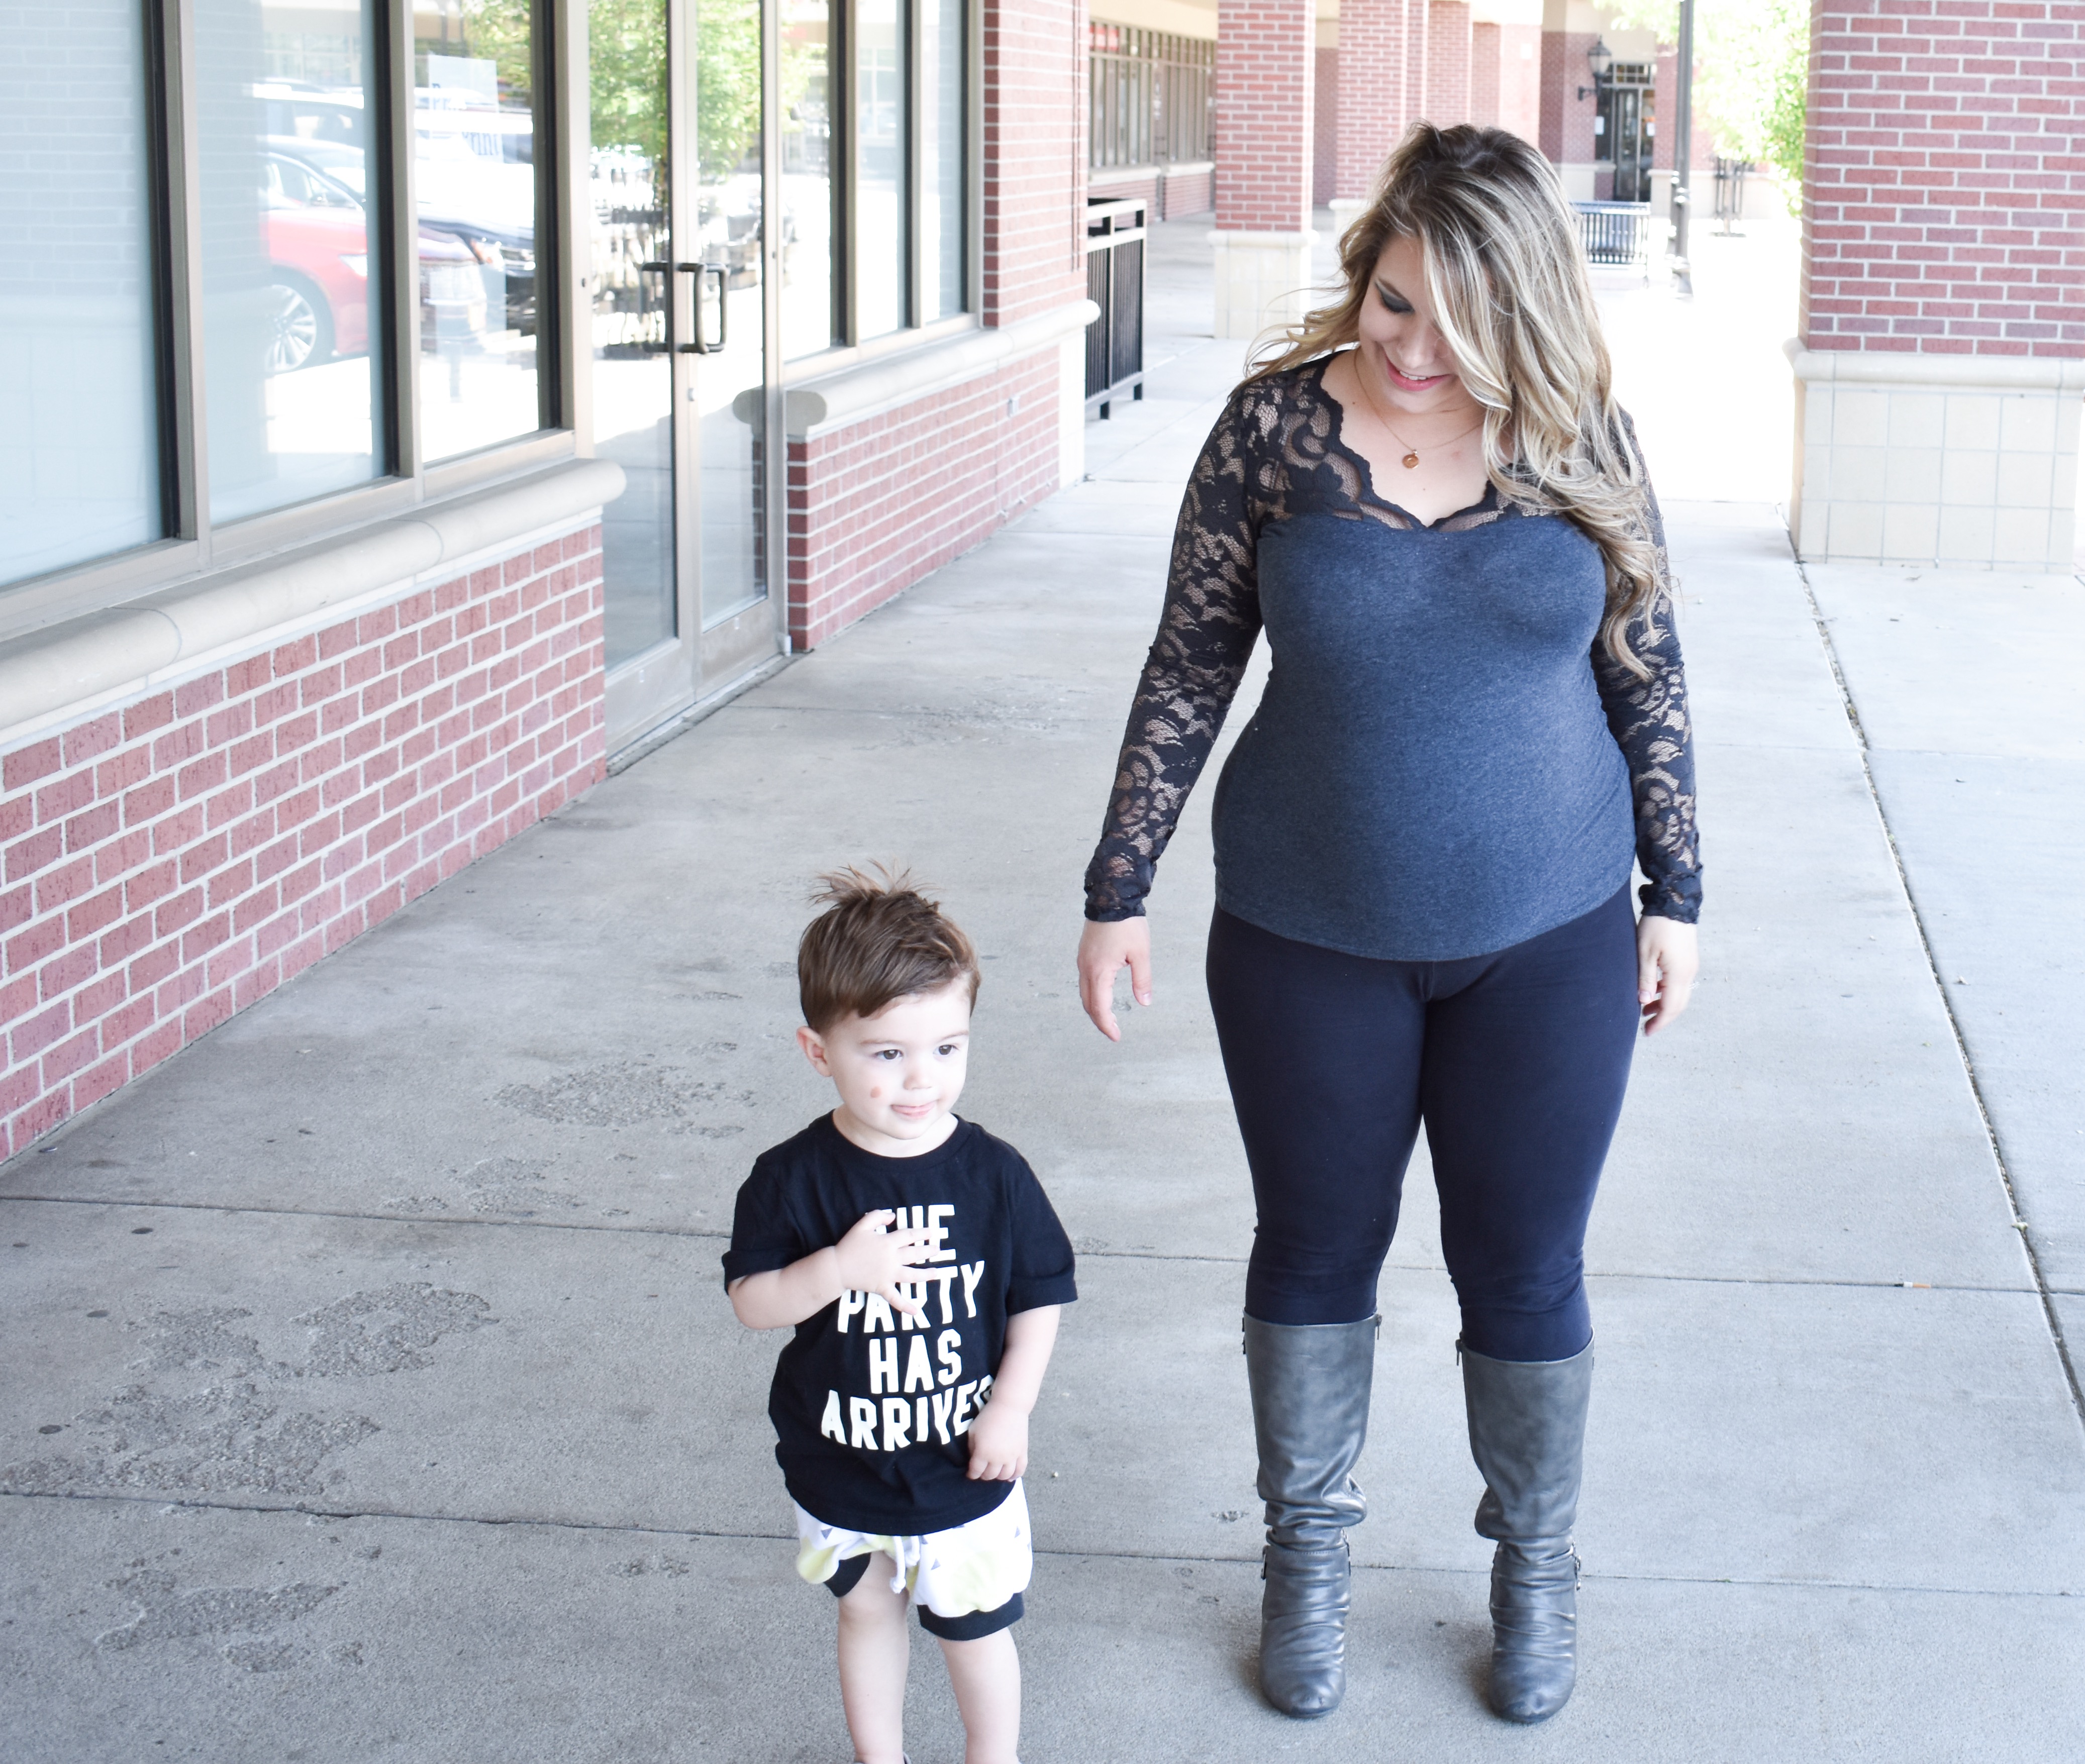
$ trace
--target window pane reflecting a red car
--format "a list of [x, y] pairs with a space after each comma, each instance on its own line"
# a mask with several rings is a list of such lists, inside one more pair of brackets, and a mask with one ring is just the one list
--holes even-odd
[[384, 471], [373, 0], [196, 0], [211, 519]]

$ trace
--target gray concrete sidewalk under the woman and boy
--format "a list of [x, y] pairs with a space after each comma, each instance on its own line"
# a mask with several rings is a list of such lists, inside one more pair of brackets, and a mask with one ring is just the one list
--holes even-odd
[[[1293, 1724], [1253, 1693], [1207, 790], [1122, 1047], [1070, 963], [1236, 367], [1193, 334], [1182, 240], [1168, 359], [1093, 427], [1093, 482], [0, 1168], [10, 1758], [844, 1764], [769, 1455], [778, 1341], [717, 1255], [753, 1153], [830, 1101], [790, 1045], [807, 878], [880, 855], [976, 936], [963, 1111], [1082, 1253], [1034, 1428], [1030, 1764], [2077, 1756], [2085, 1432], [2050, 1309], [2085, 1334], [2085, 603], [1806, 584], [1764, 503], [1668, 507], [1710, 970], [1641, 1053], [1595, 1214], [1578, 1695], [1537, 1731], [1478, 1699], [1424, 1161], [1349, 1701]], [[961, 1756], [932, 1649], [909, 1743]]]

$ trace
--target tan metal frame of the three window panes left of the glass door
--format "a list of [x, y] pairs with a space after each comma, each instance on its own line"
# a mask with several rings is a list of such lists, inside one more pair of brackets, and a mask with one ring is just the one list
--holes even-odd
[[[27, 636], [102, 611], [156, 588], [252, 563], [317, 540], [338, 538], [375, 521], [521, 477], [573, 459], [575, 417], [586, 411], [586, 384], [573, 340], [575, 265], [584, 242], [573, 238], [573, 144], [588, 133], [584, 38], [573, 42], [573, 15], [584, 33], [584, 6], [573, 0], [530, 0], [536, 79], [536, 363], [538, 427], [455, 459], [430, 463], [419, 434], [419, 219], [413, 190], [415, 90], [413, 0], [375, 0], [375, 69], [369, 125], [367, 202], [371, 231], [386, 244], [382, 319], [371, 311], [371, 350], [382, 348], [384, 419], [373, 442], [382, 471], [367, 484], [271, 509], [238, 521], [208, 515], [206, 375], [202, 307], [200, 131], [196, 123], [196, 0], [144, 4], [146, 15], [146, 188], [152, 206], [150, 250], [154, 288], [154, 398], [161, 444], [161, 515], [165, 534], [88, 563], [0, 584], [0, 640]], [[377, 290], [371, 288], [371, 294]], [[371, 298], [371, 309], [377, 300]]]

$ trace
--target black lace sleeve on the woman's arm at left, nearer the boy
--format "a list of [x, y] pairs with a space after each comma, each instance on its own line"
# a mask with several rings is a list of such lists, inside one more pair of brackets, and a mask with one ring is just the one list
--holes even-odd
[[1145, 659], [1115, 761], [1101, 844], [1086, 865], [1086, 917], [1134, 920], [1180, 824], [1259, 638], [1259, 467], [1274, 400], [1243, 388], [1195, 461], [1159, 634]]

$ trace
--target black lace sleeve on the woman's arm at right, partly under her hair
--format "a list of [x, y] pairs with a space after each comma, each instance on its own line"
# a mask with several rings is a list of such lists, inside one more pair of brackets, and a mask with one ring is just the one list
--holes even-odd
[[[1628, 446], [1637, 448], [1628, 425]], [[1647, 482], [1647, 480], [1645, 480]], [[1639, 680], [1608, 646], [1593, 642], [1593, 678], [1608, 728], [1628, 761], [1628, 788], [1637, 805], [1637, 863], [1647, 882], [1643, 911], [1691, 926], [1701, 915], [1701, 844], [1695, 832], [1693, 721], [1687, 715], [1687, 669], [1674, 630], [1672, 567], [1666, 523], [1651, 500], [1651, 542], [1658, 546], [1658, 596], [1628, 621], [1628, 646], [1651, 669]]]

